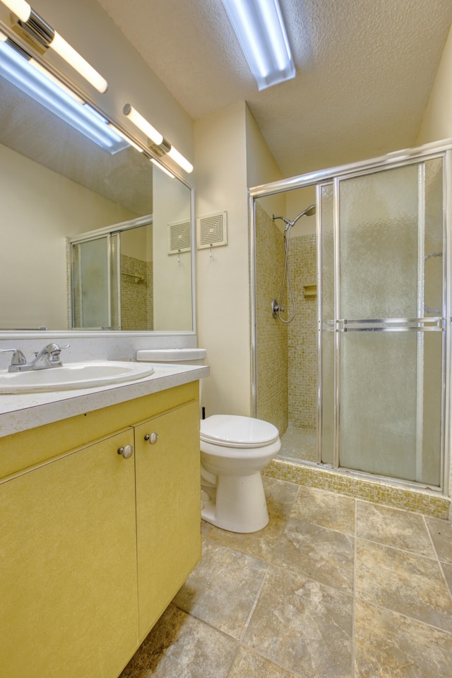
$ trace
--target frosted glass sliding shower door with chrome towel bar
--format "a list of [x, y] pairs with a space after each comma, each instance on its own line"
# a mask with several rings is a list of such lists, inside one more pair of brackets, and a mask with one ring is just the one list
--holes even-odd
[[[334, 182], [335, 460], [441, 484], [443, 161]], [[331, 317], [331, 316], [330, 316]]]

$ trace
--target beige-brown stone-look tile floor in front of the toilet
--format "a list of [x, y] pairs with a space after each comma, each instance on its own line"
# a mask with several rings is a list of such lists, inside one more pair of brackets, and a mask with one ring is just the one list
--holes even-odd
[[270, 522], [203, 557], [121, 678], [451, 678], [452, 527], [264, 478]]

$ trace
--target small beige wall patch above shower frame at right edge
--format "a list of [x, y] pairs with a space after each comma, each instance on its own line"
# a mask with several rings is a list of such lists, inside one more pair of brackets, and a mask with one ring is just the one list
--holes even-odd
[[452, 138], [452, 28], [422, 119], [417, 144]]

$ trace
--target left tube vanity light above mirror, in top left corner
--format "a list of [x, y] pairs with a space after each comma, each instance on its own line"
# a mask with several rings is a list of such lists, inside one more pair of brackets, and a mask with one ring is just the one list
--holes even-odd
[[100, 93], [107, 91], [108, 83], [88, 61], [83, 59], [25, 0], [1, 0], [13, 14], [18, 16], [23, 28], [35, 37], [43, 47], [51, 47], [77, 73]]

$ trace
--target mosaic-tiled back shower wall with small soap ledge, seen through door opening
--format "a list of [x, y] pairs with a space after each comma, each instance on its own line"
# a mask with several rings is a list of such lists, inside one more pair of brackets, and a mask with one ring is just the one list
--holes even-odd
[[[290, 276], [297, 314], [288, 326], [289, 421], [317, 426], [316, 236], [290, 239]], [[289, 302], [290, 305], [290, 302]]]

